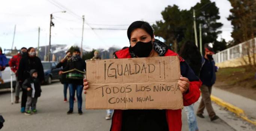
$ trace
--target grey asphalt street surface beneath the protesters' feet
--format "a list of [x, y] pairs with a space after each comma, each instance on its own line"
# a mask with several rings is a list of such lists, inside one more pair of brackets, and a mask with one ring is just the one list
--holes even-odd
[[[62, 91], [63, 87], [58, 82], [42, 86], [42, 96], [37, 103], [38, 113], [31, 116], [19, 112], [20, 104], [10, 104], [10, 93], [0, 94], [0, 114], [6, 120], [1, 131], [109, 131], [111, 121], [105, 120], [105, 110], [83, 109], [84, 114], [78, 115], [75, 103], [75, 112], [67, 115], [69, 103], [63, 103]], [[197, 106], [198, 102], [195, 109]], [[217, 105], [214, 105], [214, 109], [220, 116], [232, 115]], [[222, 114], [219, 114], [220, 111]], [[183, 112], [182, 115], [183, 131], [188, 131], [186, 114]], [[201, 131], [234, 131], [225, 121], [219, 119], [211, 122], [205, 116], [205, 119], [197, 118]]]

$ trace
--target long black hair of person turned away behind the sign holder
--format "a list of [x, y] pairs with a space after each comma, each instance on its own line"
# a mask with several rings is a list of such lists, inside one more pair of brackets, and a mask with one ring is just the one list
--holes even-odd
[[186, 41], [180, 50], [180, 56], [188, 63], [196, 76], [199, 76], [202, 66], [202, 56], [192, 41]]

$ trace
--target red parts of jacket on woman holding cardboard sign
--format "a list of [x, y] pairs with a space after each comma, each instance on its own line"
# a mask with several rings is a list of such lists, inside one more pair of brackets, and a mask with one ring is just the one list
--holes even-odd
[[[117, 56], [117, 58], [131, 58], [132, 57], [129, 53], [129, 48], [120, 50], [120, 51], [116, 52], [115, 55]], [[176, 54], [168, 49], [164, 56], [177, 56], [177, 55], [178, 54]], [[183, 63], [183, 62], [185, 63], [185, 61], [180, 57], [180, 63]], [[191, 73], [192, 69], [190, 67], [186, 70], [189, 70], [189, 71], [187, 71], [187, 73], [191, 74], [189, 77], [195, 76], [195, 74]], [[181, 66], [181, 73], [182, 72], [183, 72], [183, 67]], [[196, 81], [190, 81], [190, 87], [189, 87], [188, 93], [183, 93], [183, 105], [184, 106], [189, 106], [189, 105], [195, 103], [196, 101], [198, 101], [198, 99], [200, 97], [199, 88], [201, 87], [201, 85], [202, 85], [202, 82], [198, 78]], [[122, 112], [123, 112], [123, 110], [115, 110], [114, 111], [114, 115], [112, 118], [111, 131], [121, 131]], [[166, 110], [166, 120], [167, 120], [169, 131], [181, 131], [181, 127], [182, 127], [181, 109]]]

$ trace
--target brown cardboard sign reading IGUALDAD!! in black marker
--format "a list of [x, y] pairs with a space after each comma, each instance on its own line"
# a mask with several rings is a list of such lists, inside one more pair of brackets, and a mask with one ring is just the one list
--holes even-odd
[[182, 109], [178, 56], [87, 61], [86, 109]]

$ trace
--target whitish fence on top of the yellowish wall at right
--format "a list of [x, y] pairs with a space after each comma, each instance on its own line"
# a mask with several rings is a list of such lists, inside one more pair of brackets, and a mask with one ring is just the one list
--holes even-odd
[[[255, 48], [253, 50], [253, 44]], [[256, 37], [254, 39], [245, 41], [228, 49], [222, 50], [213, 55], [216, 63], [224, 62], [226, 60], [236, 59], [247, 55], [247, 46], [249, 47], [250, 54], [256, 53]]]

